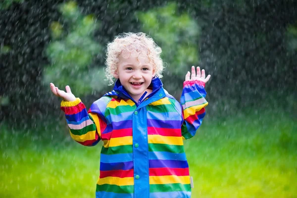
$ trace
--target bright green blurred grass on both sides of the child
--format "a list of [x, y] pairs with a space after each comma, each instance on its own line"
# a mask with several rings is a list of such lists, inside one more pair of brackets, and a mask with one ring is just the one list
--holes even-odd
[[[265, 112], [211, 120], [185, 141], [193, 198], [297, 198], [297, 126]], [[46, 130], [0, 126], [0, 197], [91, 198], [101, 144], [87, 148]]]

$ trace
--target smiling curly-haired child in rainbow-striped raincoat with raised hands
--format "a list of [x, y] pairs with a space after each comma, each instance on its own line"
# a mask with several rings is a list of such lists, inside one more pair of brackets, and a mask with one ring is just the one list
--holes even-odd
[[89, 111], [79, 98], [59, 90], [71, 137], [85, 146], [100, 140], [97, 198], [190, 198], [183, 139], [196, 134], [205, 115], [205, 72], [186, 74], [181, 104], [160, 81], [161, 49], [144, 33], [126, 33], [107, 45], [106, 77], [113, 91]]

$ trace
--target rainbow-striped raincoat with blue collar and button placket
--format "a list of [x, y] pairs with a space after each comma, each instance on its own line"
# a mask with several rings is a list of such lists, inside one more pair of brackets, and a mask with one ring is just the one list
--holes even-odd
[[158, 78], [136, 102], [119, 81], [89, 111], [80, 99], [61, 102], [71, 137], [85, 146], [103, 141], [97, 198], [190, 198], [183, 139], [192, 138], [205, 115], [201, 81], [187, 81], [181, 103]]

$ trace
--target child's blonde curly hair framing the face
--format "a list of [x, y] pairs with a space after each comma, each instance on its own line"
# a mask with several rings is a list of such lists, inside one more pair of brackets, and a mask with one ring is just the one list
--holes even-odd
[[146, 53], [143, 55], [147, 55], [149, 62], [153, 64], [156, 76], [159, 78], [163, 77], [161, 73], [164, 66], [160, 57], [162, 49], [145, 33], [128, 32], [119, 34], [112, 42], [107, 44], [105, 80], [109, 81], [109, 85], [114, 83], [112, 74], [117, 69], [119, 56], [123, 50], [127, 50], [130, 53], [133, 51], [137, 53]]

